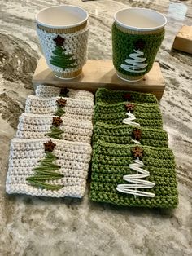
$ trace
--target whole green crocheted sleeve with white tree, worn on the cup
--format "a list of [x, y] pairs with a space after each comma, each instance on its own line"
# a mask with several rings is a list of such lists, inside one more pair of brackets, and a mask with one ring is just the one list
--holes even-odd
[[164, 29], [159, 33], [130, 34], [117, 29], [114, 23], [112, 25], [114, 67], [120, 73], [133, 77], [148, 73], [163, 39]]

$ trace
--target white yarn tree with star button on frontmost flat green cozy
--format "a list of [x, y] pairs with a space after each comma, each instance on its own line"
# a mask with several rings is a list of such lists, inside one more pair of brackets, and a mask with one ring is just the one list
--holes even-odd
[[129, 168], [131, 170], [135, 170], [136, 174], [124, 175], [123, 179], [130, 184], [119, 184], [117, 185], [116, 190], [118, 192], [133, 195], [135, 198], [137, 196], [155, 197], [155, 193], [138, 190], [143, 188], [153, 188], [155, 186], [155, 183], [144, 179], [146, 177], [149, 177], [150, 173], [149, 171], [142, 169], [142, 167], [144, 167], [144, 164], [139, 159], [143, 155], [143, 149], [135, 147], [133, 148], [132, 152], [133, 157], [136, 157], [137, 159], [133, 160], [133, 163], [129, 165]]

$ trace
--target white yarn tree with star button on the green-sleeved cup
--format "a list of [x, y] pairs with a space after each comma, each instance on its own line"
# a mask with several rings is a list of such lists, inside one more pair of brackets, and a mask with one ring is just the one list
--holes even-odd
[[126, 59], [124, 62], [126, 64], [121, 64], [120, 68], [123, 68], [125, 71], [128, 71], [130, 73], [142, 73], [146, 71], [146, 67], [148, 64], [143, 63], [146, 61], [146, 58], [143, 58], [141, 56], [144, 55], [142, 52], [142, 49], [145, 46], [145, 42], [142, 39], [137, 40], [135, 44], [134, 52], [129, 54], [129, 58]]

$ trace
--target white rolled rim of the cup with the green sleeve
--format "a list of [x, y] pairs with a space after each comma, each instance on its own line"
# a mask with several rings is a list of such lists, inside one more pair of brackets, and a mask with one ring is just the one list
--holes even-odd
[[[134, 27], [134, 26], [131, 26], [131, 25], [127, 25], [127, 24], [124, 24], [122, 22], [120, 22], [120, 20], [118, 20], [116, 18], [116, 15], [118, 13], [120, 13], [120, 11], [124, 11], [124, 10], [142, 10], [142, 11], [148, 11], [148, 12], [153, 12], [155, 13], [156, 15], [159, 15], [161, 16], [163, 19], [164, 19], [164, 23], [159, 25], [159, 26], [154, 26], [154, 27], [147, 27], [147, 28], [138, 28], [138, 27]], [[123, 27], [125, 29], [131, 29], [131, 30], [136, 30], [136, 31], [154, 31], [154, 30], [158, 30], [158, 29], [163, 29], [164, 26], [167, 24], [168, 20], [167, 18], [162, 14], [160, 13], [159, 11], [155, 11], [155, 10], [152, 10], [152, 9], [148, 9], [148, 8], [140, 8], [140, 7], [129, 7], [129, 8], [124, 8], [124, 9], [121, 9], [120, 11], [116, 11], [115, 15], [114, 15], [114, 20], [116, 22], [116, 24], [119, 24], [120, 27]]]

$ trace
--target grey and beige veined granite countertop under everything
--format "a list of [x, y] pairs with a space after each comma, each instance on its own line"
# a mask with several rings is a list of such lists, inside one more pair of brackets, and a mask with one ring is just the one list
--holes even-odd
[[[176, 210], [119, 208], [89, 201], [7, 196], [9, 143], [41, 56], [34, 14], [76, 4], [89, 11], [89, 59], [111, 58], [111, 24], [123, 7], [147, 7], [168, 18], [157, 60], [166, 89], [160, 101], [164, 129], [177, 161]], [[192, 255], [192, 55], [171, 51], [182, 24], [191, 25], [191, 1], [2, 0], [0, 10], [0, 256]]]

